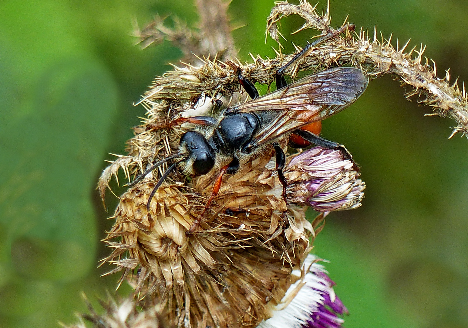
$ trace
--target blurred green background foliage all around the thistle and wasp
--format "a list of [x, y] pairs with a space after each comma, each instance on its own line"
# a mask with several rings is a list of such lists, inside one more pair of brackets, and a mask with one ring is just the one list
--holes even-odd
[[[239, 58], [274, 56], [264, 44], [271, 0], [233, 0]], [[319, 7], [326, 6], [325, 1]], [[332, 24], [350, 22], [410, 45], [427, 44], [439, 75], [468, 79], [468, 2], [331, 1]], [[154, 75], [181, 52], [132, 46], [131, 19], [175, 14], [194, 25], [191, 1], [10, 0], [0, 2], [0, 325], [57, 327], [113, 291], [118, 274], [97, 260], [117, 199], [95, 191], [108, 153], [123, 154], [133, 107]], [[285, 36], [302, 21], [282, 21]], [[312, 31], [288, 36], [304, 45]], [[396, 42], [396, 41], [395, 41]], [[402, 44], [402, 43], [400, 43]], [[333, 213], [314, 252], [329, 259], [347, 328], [468, 327], [468, 140], [453, 121], [424, 117], [390, 77], [370, 82], [352, 108], [327, 119], [322, 135], [344, 143], [361, 166], [366, 198]], [[129, 292], [123, 286], [119, 293]]]

